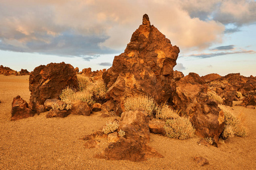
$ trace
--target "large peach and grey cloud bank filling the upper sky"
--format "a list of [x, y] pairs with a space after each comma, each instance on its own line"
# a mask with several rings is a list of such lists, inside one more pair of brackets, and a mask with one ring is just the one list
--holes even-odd
[[207, 49], [224, 31], [236, 31], [224, 24], [255, 23], [255, 7], [220, 0], [1, 1], [0, 50], [77, 57], [122, 52], [145, 13], [173, 45]]

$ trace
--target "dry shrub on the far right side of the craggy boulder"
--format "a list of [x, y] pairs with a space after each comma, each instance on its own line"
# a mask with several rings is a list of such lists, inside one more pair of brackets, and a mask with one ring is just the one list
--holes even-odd
[[222, 133], [222, 138], [228, 139], [234, 135], [237, 137], [245, 137], [248, 132], [245, 126], [243, 126], [243, 122], [245, 121], [243, 113], [240, 113], [238, 117], [236, 117], [230, 107], [225, 105], [218, 105], [218, 107], [224, 112], [226, 118], [226, 125]]

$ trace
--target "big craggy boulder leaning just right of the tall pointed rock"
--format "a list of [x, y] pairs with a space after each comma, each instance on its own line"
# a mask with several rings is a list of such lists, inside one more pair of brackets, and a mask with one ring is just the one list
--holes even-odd
[[217, 142], [224, 130], [224, 113], [218, 104], [209, 99], [207, 86], [196, 73], [189, 73], [176, 82], [176, 91], [169, 103], [188, 116], [196, 129], [196, 134], [203, 138], [214, 138]]

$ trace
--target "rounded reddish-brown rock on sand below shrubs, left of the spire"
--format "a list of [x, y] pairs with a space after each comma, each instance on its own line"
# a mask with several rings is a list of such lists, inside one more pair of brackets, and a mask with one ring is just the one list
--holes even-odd
[[76, 115], [90, 116], [92, 109], [90, 109], [89, 105], [85, 101], [77, 100], [72, 104], [72, 108], [68, 112]]

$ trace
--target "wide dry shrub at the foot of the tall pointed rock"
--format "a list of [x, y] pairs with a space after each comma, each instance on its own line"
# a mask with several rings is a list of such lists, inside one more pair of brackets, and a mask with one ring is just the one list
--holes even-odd
[[148, 115], [151, 115], [155, 110], [155, 101], [148, 96], [132, 96], [124, 100], [124, 107], [126, 111], [135, 111], [136, 109], [143, 109]]

